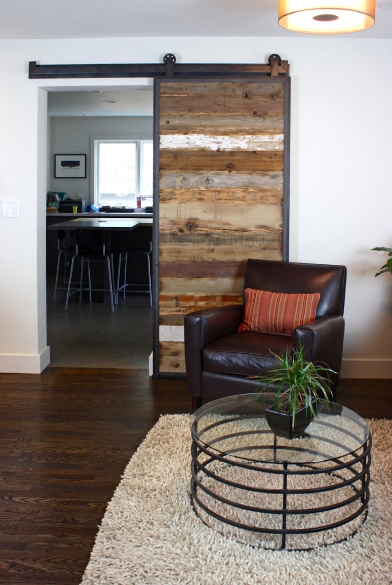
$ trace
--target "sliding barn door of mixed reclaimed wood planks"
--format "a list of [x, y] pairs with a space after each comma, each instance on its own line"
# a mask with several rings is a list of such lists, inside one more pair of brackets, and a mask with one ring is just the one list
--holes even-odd
[[159, 374], [185, 373], [184, 315], [242, 303], [248, 258], [287, 259], [289, 81], [157, 81]]

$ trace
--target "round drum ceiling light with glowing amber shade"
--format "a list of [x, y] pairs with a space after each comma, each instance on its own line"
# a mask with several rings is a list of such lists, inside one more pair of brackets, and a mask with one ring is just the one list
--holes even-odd
[[376, 0], [279, 0], [279, 24], [311, 35], [356, 33], [374, 25]]

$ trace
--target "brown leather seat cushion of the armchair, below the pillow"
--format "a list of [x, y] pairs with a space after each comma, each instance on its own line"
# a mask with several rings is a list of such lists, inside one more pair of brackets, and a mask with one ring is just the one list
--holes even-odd
[[271, 352], [282, 355], [293, 352], [293, 338], [242, 331], [231, 333], [203, 349], [203, 370], [243, 376], [258, 376], [276, 365]]

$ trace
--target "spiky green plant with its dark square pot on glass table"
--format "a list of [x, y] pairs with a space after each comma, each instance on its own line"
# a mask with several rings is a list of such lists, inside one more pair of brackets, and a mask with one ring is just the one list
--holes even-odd
[[328, 373], [335, 372], [327, 364], [308, 362], [301, 345], [292, 355], [271, 353], [277, 365], [254, 376], [260, 382], [256, 391], [263, 396], [275, 393], [273, 406], [265, 409], [267, 422], [276, 435], [293, 439], [303, 434], [322, 402], [333, 402]]

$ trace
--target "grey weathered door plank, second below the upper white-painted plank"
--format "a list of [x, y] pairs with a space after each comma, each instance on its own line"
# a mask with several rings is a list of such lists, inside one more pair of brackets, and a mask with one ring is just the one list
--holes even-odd
[[258, 189], [262, 187], [283, 187], [283, 173], [279, 171], [235, 172], [203, 171], [176, 173], [161, 171], [159, 173], [161, 189]]

